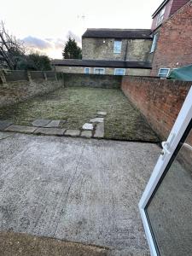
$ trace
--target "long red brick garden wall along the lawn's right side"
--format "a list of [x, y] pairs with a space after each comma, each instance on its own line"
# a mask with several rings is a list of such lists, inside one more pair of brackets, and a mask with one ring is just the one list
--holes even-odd
[[121, 89], [164, 139], [172, 130], [191, 82], [124, 77]]

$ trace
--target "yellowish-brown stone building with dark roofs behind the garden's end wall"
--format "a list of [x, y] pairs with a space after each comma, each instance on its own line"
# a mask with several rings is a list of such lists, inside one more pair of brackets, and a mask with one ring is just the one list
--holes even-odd
[[153, 37], [150, 29], [87, 29], [82, 60], [55, 60], [56, 71], [148, 76]]

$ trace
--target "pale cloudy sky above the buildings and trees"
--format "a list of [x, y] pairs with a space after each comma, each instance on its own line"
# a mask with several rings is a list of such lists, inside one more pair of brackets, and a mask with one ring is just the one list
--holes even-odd
[[0, 0], [0, 20], [28, 49], [61, 59], [87, 28], [150, 28], [163, 0]]

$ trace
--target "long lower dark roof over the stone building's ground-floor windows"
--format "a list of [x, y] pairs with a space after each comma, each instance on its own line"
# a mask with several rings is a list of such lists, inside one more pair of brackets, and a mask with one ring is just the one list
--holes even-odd
[[119, 67], [119, 68], [151, 68], [151, 63], [146, 61], [102, 61], [102, 60], [53, 60], [54, 66], [68, 67]]

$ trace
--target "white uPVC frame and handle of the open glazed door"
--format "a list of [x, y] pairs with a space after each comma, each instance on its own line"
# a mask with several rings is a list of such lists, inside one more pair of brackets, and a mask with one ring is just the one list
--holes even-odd
[[177, 120], [172, 127], [172, 131], [166, 141], [162, 143], [163, 151], [160, 154], [159, 160], [154, 166], [154, 171], [152, 172], [151, 177], [149, 178], [148, 184], [143, 192], [142, 198], [139, 201], [139, 210], [143, 219], [143, 226], [148, 240], [148, 246], [150, 253], [153, 256], [157, 256], [158, 253], [155, 248], [154, 239], [149, 228], [148, 218], [146, 216], [145, 207], [148, 204], [149, 199], [151, 198], [154, 189], [157, 184], [160, 182], [160, 177], [166, 170], [166, 166], [172, 158], [172, 154], [177, 148], [178, 143], [183, 137], [184, 131], [187, 129], [190, 120], [192, 119], [192, 86], [189, 90], [189, 94], [186, 97], [183, 107], [180, 110], [180, 113], [177, 116]]

